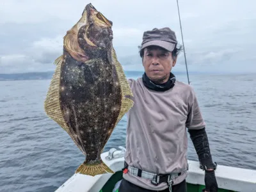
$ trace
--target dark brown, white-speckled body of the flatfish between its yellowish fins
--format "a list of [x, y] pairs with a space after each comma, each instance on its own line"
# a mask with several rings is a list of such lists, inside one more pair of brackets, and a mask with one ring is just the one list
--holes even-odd
[[93, 59], [84, 64], [64, 55], [61, 110], [74, 139], [86, 152], [87, 163], [100, 159], [100, 149], [115, 127], [121, 107], [120, 85], [108, 61]]

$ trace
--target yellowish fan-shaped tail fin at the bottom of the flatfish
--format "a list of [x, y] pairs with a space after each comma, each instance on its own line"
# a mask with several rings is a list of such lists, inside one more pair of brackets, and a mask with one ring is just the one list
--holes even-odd
[[86, 163], [86, 161], [84, 161], [84, 163], [77, 168], [76, 174], [95, 176], [100, 174], [115, 174], [115, 172], [102, 161], [95, 163]]

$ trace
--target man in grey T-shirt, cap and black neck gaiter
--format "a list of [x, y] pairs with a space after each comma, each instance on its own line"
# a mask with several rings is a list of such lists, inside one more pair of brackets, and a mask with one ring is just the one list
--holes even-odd
[[145, 31], [140, 48], [145, 73], [128, 80], [134, 106], [127, 113], [127, 151], [119, 192], [186, 192], [186, 128], [205, 170], [205, 191], [217, 192], [216, 166], [195, 92], [171, 72], [180, 51], [175, 33], [167, 27]]

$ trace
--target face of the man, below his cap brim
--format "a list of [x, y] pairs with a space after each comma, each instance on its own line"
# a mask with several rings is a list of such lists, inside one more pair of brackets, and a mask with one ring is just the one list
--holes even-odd
[[173, 60], [172, 52], [161, 47], [147, 47], [144, 50], [143, 66], [148, 78], [156, 84], [168, 81], [170, 71], [175, 66], [177, 57]]

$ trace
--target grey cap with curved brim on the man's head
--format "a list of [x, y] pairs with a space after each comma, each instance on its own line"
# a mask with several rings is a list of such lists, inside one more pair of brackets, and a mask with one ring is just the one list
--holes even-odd
[[154, 28], [152, 31], [145, 31], [143, 34], [141, 49], [150, 45], [163, 47], [172, 52], [175, 45], [177, 45], [175, 32], [169, 27], [164, 27], [162, 29]]

